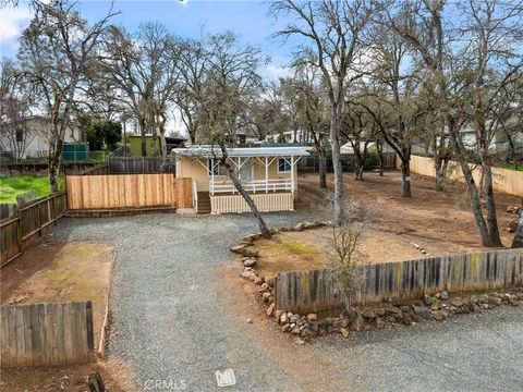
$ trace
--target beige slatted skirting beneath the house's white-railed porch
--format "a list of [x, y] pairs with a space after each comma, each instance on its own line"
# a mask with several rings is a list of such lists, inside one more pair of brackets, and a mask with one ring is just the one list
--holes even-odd
[[[291, 192], [251, 194], [260, 212], [292, 211], [294, 199]], [[251, 212], [241, 195], [211, 195], [210, 213]]]

